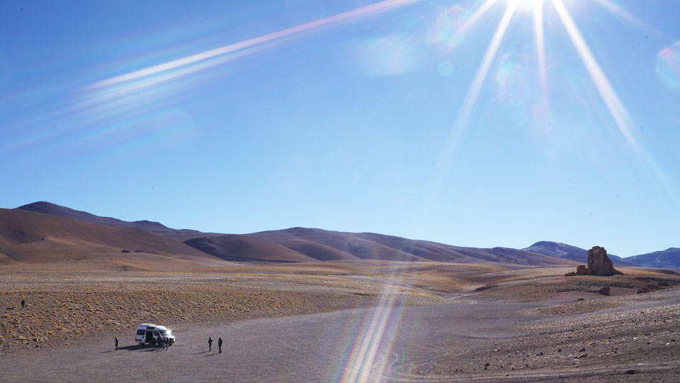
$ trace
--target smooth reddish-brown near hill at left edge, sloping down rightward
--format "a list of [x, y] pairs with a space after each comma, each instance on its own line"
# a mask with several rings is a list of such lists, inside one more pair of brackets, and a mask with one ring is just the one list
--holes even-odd
[[[122, 253], [122, 250], [130, 253]], [[184, 260], [205, 265], [224, 264], [179, 241], [137, 228], [89, 223], [17, 209], [0, 209], [0, 254], [8, 262], [60, 262], [101, 255]], [[150, 262], [150, 261], [149, 261]]]

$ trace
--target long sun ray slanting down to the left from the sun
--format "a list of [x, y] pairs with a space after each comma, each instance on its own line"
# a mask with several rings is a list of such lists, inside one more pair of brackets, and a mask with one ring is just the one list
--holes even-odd
[[496, 52], [498, 51], [498, 47], [501, 44], [501, 41], [503, 40], [503, 36], [505, 35], [505, 32], [508, 28], [508, 25], [513, 14], [515, 13], [516, 8], [517, 8], [516, 1], [510, 1], [508, 3], [508, 6], [505, 9], [505, 13], [503, 14], [503, 18], [498, 24], [498, 28], [494, 33], [494, 37], [492, 38], [491, 43], [489, 43], [489, 47], [487, 48], [487, 51], [485, 52], [485, 55], [482, 58], [480, 67], [477, 69], [477, 73], [475, 73], [475, 77], [472, 79], [472, 84], [470, 84], [470, 88], [467, 89], [467, 94], [465, 94], [463, 104], [460, 106], [458, 116], [455, 118], [455, 121], [453, 122], [453, 127], [450, 130], [448, 138], [446, 138], [446, 143], [444, 143], [441, 155], [439, 156], [438, 160], [439, 172], [437, 184], [441, 182], [441, 179], [444, 177], [444, 174], [446, 174], [446, 170], [450, 165], [451, 157], [453, 157], [455, 145], [458, 143], [460, 135], [463, 133], [463, 130], [465, 129], [465, 124], [467, 123], [467, 118], [470, 117], [470, 111], [472, 111], [472, 106], [475, 105], [477, 95], [480, 94], [482, 84], [484, 84], [484, 80], [487, 78], [487, 74], [489, 73], [489, 67], [491, 67], [494, 57], [496, 56]]

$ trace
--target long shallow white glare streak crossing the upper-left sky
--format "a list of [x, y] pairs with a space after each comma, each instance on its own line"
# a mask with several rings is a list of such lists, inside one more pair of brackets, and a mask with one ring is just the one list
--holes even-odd
[[111, 77], [109, 79], [102, 80], [90, 85], [90, 89], [101, 89], [104, 87], [111, 87], [116, 84], [123, 82], [130, 82], [142, 77], [152, 76], [154, 74], [159, 74], [168, 70], [174, 70], [179, 67], [184, 67], [186, 65], [191, 65], [196, 62], [202, 62], [205, 60], [212, 59], [214, 57], [226, 55], [227, 53], [236, 52], [238, 50], [243, 50], [246, 48], [251, 48], [256, 45], [261, 45], [263, 43], [268, 43], [273, 40], [278, 40], [280, 38], [285, 38], [291, 35], [296, 35], [302, 32], [314, 30], [321, 28], [323, 26], [328, 26], [333, 23], [340, 23], [342, 21], [347, 21], [351, 18], [357, 18], [361, 16], [368, 16], [373, 13], [380, 13], [388, 11], [390, 9], [395, 9], [400, 6], [406, 6], [408, 4], [415, 3], [420, 0], [384, 0], [375, 4], [370, 4], [368, 6], [362, 6], [358, 9], [353, 9], [351, 11], [346, 11], [338, 13], [334, 16], [329, 16], [326, 18], [320, 18], [315, 21], [310, 21], [309, 23], [300, 24], [299, 26], [293, 26], [290, 28], [285, 28], [283, 30], [278, 30], [276, 32], [267, 33], [266, 35], [261, 35], [256, 38], [251, 38], [248, 40], [243, 40], [238, 43], [233, 43], [225, 45], [220, 48], [215, 48], [212, 50], [207, 50], [205, 52], [197, 53], [196, 55], [191, 55], [187, 57], [182, 57], [181, 59], [172, 60], [169, 62], [164, 62], [163, 64], [154, 65], [152, 67], [147, 67], [142, 70], [136, 70], [134, 72], [120, 74], [119, 76]]

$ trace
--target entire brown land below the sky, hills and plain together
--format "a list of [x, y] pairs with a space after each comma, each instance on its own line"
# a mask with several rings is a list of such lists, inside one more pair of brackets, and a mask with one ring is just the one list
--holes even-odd
[[[677, 270], [29, 207], [0, 209], [2, 382], [680, 380]], [[176, 343], [140, 348], [140, 323]]]

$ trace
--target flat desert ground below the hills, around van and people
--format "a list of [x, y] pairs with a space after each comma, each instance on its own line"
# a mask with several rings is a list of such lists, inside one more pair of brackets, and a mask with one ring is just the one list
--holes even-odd
[[[4, 265], [0, 381], [680, 381], [680, 275], [624, 267], [615, 277], [563, 277], [571, 270], [372, 260], [191, 272], [92, 260]], [[138, 347], [143, 322], [169, 326], [176, 343]]]

